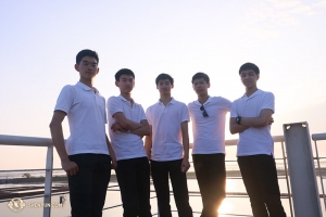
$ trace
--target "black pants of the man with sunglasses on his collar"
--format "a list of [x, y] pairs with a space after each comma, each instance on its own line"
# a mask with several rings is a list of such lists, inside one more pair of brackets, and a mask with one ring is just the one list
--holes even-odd
[[202, 199], [201, 217], [216, 217], [225, 199], [225, 154], [193, 154], [192, 159]]

